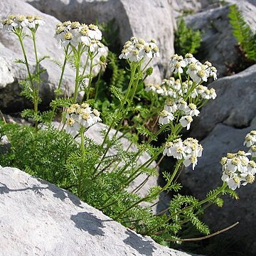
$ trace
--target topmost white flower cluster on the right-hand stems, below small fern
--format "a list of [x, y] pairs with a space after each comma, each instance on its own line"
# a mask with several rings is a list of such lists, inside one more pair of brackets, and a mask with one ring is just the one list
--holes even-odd
[[171, 72], [174, 73], [183, 73], [186, 68], [186, 74], [199, 84], [204, 81], [207, 82], [208, 78], [217, 79], [217, 70], [213, 65], [206, 61], [204, 64], [196, 60], [191, 53], [187, 53], [185, 58], [181, 55], [173, 55], [171, 56], [170, 61]]

